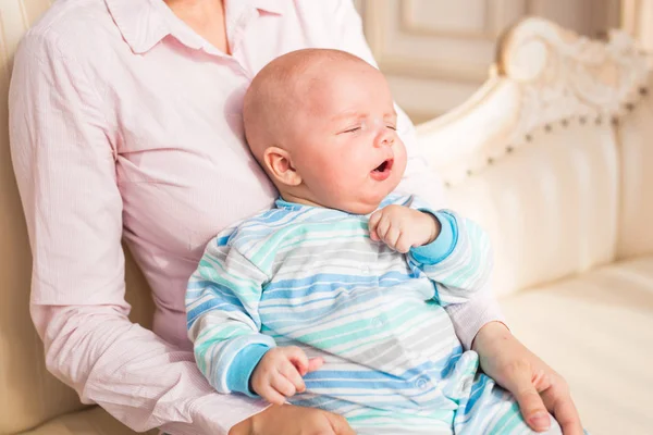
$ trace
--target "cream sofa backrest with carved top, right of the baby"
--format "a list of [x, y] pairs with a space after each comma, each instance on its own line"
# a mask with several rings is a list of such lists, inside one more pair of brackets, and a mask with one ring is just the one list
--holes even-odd
[[497, 45], [491, 78], [418, 127], [449, 207], [491, 234], [494, 291], [653, 252], [651, 70], [632, 40], [529, 18]]

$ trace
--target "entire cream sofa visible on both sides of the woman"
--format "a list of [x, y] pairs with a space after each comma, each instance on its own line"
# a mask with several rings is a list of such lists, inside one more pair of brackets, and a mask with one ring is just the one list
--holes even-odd
[[[12, 53], [48, 4], [0, 0], [0, 434], [127, 435], [47, 372], [28, 314], [5, 101]], [[514, 332], [566, 376], [595, 435], [651, 433], [653, 422], [651, 85], [623, 36], [604, 46], [527, 21], [475, 97], [419, 127], [452, 207], [494, 239]], [[131, 259], [126, 281], [132, 319], [148, 326], [151, 299]]]

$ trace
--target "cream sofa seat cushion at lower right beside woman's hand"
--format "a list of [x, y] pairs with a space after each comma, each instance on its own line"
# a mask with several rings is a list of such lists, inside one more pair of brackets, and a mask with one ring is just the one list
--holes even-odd
[[501, 302], [513, 332], [568, 381], [593, 435], [652, 433], [653, 257]]

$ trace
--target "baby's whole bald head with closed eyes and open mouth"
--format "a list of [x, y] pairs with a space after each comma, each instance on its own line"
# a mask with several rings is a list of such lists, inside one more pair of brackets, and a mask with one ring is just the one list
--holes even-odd
[[251, 82], [243, 117], [251, 152], [288, 201], [367, 214], [406, 169], [387, 82], [344, 51], [276, 58]]

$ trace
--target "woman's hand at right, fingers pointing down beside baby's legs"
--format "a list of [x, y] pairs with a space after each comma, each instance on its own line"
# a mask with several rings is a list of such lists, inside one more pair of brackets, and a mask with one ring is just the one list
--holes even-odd
[[534, 431], [550, 426], [551, 412], [565, 435], [582, 435], [582, 426], [565, 380], [528, 350], [500, 322], [490, 322], [477, 334], [472, 349], [481, 368], [513, 393], [523, 420]]

